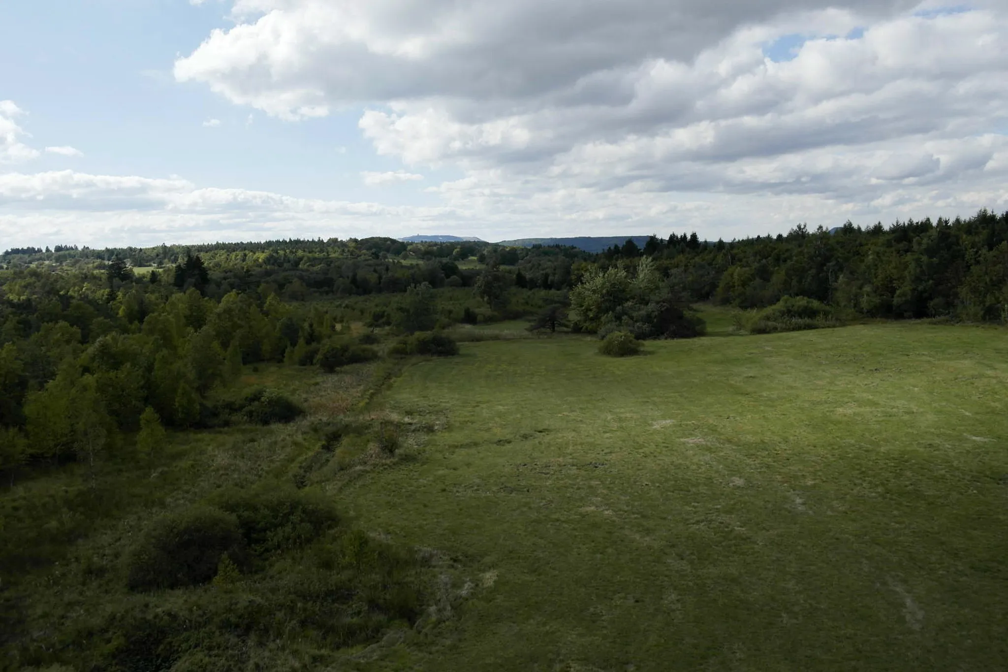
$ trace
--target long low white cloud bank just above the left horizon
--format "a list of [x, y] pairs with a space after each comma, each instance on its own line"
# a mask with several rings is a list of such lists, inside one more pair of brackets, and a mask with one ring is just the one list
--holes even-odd
[[0, 173], [0, 240], [15, 247], [406, 235], [451, 229], [458, 219], [449, 208], [294, 198], [177, 176]]

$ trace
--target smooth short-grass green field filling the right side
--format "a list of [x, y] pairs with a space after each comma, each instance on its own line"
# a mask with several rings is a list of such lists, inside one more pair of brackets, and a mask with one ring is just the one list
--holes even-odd
[[466, 344], [381, 399], [446, 429], [342, 506], [482, 580], [375, 665], [1004, 669], [1008, 332], [596, 345]]

